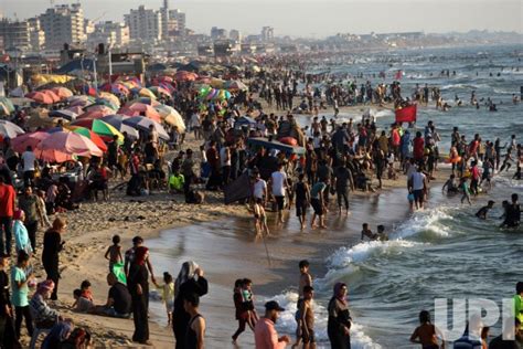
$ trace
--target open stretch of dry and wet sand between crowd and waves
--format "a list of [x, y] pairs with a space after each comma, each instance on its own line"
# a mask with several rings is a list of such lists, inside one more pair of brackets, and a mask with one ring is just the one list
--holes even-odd
[[[342, 112], [356, 110], [346, 108]], [[192, 135], [188, 138], [183, 148], [196, 149], [198, 144]], [[448, 172], [441, 170], [437, 174], [436, 182], [440, 182]], [[111, 181], [111, 187], [117, 183]], [[325, 230], [307, 229], [300, 232], [293, 209], [286, 213], [284, 226], [276, 228], [275, 218], [269, 213], [271, 236], [266, 243], [270, 265], [264, 243], [255, 241], [246, 207], [223, 204], [221, 193], [206, 192], [204, 204], [189, 205], [183, 202], [182, 195], [164, 192], [130, 198], [125, 197], [124, 191], [111, 191], [109, 202], [87, 202], [79, 210], [63, 214], [68, 228], [63, 236], [66, 244], [61, 254], [62, 279], [60, 300], [55, 307], [65, 317], [88, 328], [96, 348], [139, 348], [130, 341], [132, 320], [77, 314], [71, 311], [70, 307], [74, 300], [73, 289], [84, 279], [93, 284], [95, 303], [105, 304], [108, 264], [103, 256], [111, 236], [121, 236], [125, 251], [130, 247], [134, 236], [141, 235], [151, 248], [158, 279], [164, 271], [175, 277], [181, 263], [189, 260], [204, 268], [211, 283], [210, 294], [202, 299], [202, 313], [209, 321], [207, 345], [210, 348], [226, 348], [231, 346], [230, 338], [236, 328], [232, 302], [232, 285], [236, 278], [252, 278], [256, 294], [276, 295], [296, 285], [296, 264], [301, 258], [311, 262], [314, 275], [324, 275], [324, 258], [335, 248], [359, 241], [363, 222], [371, 226], [385, 224], [391, 231], [407, 216], [405, 183], [406, 179], [402, 174], [395, 181], [384, 180], [384, 188], [380, 191], [351, 192], [351, 215], [339, 216], [335, 210], [330, 212], [329, 228]], [[335, 205], [334, 201], [335, 197], [332, 197], [331, 208]], [[180, 246], [175, 248], [178, 253], [174, 256], [171, 255], [173, 246]], [[163, 269], [160, 266], [166, 266], [168, 257], [174, 258], [177, 263]], [[40, 263], [40, 254], [36, 260]], [[42, 271], [38, 277], [43, 279], [43, 268], [35, 269]], [[257, 306], [260, 305], [262, 300]], [[173, 346], [172, 331], [163, 321], [163, 307], [153, 305], [150, 310], [150, 331], [154, 348]], [[22, 340], [26, 343], [29, 339], [24, 337]], [[253, 343], [252, 334], [243, 335], [239, 339], [239, 345], [246, 348]]]

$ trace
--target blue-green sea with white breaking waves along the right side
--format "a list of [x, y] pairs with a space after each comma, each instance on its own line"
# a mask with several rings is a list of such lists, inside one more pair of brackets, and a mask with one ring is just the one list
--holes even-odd
[[[353, 75], [364, 73], [364, 80], [373, 84], [382, 80], [373, 78], [372, 74], [377, 76], [380, 72], [385, 72], [387, 77], [383, 82], [389, 83], [402, 70], [402, 88], [407, 95], [416, 84], [438, 86], [444, 99], [452, 107], [444, 113], [436, 110], [434, 103], [428, 107], [421, 106], [417, 127], [423, 130], [427, 121], [433, 120], [441, 136], [440, 152], [448, 154], [453, 126], [458, 126], [468, 140], [480, 134], [483, 140], [500, 138], [504, 144], [511, 135], [516, 135], [517, 142], [523, 142], [523, 104], [512, 104], [512, 95], [520, 96], [523, 86], [522, 60], [521, 46], [420, 49], [354, 55], [348, 57], [346, 63], [340, 62], [329, 68]], [[444, 70], [450, 71], [449, 77], [440, 76]], [[478, 99], [490, 97], [497, 104], [498, 112], [489, 112], [484, 105], [479, 109], [470, 106], [472, 91]], [[453, 105], [456, 95], [463, 101], [463, 106]], [[332, 117], [331, 110], [324, 113], [328, 118]], [[387, 128], [394, 120], [391, 110], [374, 114], [380, 128]], [[351, 112], [341, 114], [339, 118], [356, 120], [361, 116], [362, 113]], [[302, 125], [310, 123], [305, 117], [299, 120]], [[380, 197], [378, 200], [384, 200], [385, 205], [372, 202], [372, 199], [354, 200], [352, 205], [356, 221], [364, 221], [365, 218], [357, 215], [367, 212], [374, 221], [388, 219], [393, 222], [387, 225], [389, 241], [360, 242], [352, 239], [337, 248], [329, 248], [328, 253], [322, 252], [322, 275], [314, 275], [318, 347], [329, 348], [327, 305], [337, 282], [344, 282], [349, 287], [348, 298], [354, 321], [352, 348], [418, 347], [409, 343], [409, 336], [418, 325], [417, 317], [421, 309], [434, 315], [436, 298], [449, 302], [487, 298], [501, 304], [503, 298], [512, 297], [516, 282], [523, 281], [523, 226], [517, 230], [501, 229], [499, 218], [502, 214], [501, 201], [510, 200], [514, 192], [523, 195], [522, 182], [511, 179], [514, 168], [494, 177], [492, 189], [474, 199], [472, 205], [461, 204], [459, 197], [442, 194], [440, 187], [431, 189], [428, 208], [413, 214], [406, 209], [406, 189], [394, 189]], [[494, 209], [485, 221], [478, 220], [474, 213], [488, 200], [495, 201]], [[399, 220], [389, 216], [392, 212], [397, 212], [397, 208], [404, 212], [398, 215]], [[291, 216], [289, 230], [297, 230], [293, 213]], [[354, 229], [354, 224], [350, 219], [337, 225], [337, 230], [349, 230], [350, 225]], [[202, 225], [195, 233], [204, 234], [212, 229], [211, 225]], [[154, 248], [164, 248], [169, 239], [172, 237], [162, 234], [161, 239], [152, 242], [152, 254]], [[174, 261], [178, 260], [166, 257], [161, 263], [167, 266]], [[281, 293], [265, 294], [258, 298], [258, 306], [267, 299], [276, 299], [286, 308], [277, 328], [279, 332], [289, 335], [296, 329], [293, 318], [298, 297], [296, 288], [291, 287], [292, 282], [295, 279], [288, 281]], [[499, 335], [500, 324], [492, 326], [493, 336]], [[224, 336], [228, 338], [230, 334]]]

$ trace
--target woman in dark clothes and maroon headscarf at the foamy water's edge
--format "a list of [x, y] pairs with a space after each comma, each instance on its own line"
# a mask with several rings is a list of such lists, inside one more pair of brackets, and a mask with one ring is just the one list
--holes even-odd
[[329, 302], [329, 320], [327, 332], [332, 349], [351, 348], [351, 313], [346, 302], [346, 285], [338, 283], [334, 285], [334, 294]]

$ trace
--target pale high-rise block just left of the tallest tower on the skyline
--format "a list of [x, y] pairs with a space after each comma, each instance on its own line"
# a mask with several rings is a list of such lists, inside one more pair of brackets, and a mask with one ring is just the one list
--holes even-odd
[[140, 6], [125, 15], [131, 40], [156, 43], [162, 39], [162, 14], [160, 11]]

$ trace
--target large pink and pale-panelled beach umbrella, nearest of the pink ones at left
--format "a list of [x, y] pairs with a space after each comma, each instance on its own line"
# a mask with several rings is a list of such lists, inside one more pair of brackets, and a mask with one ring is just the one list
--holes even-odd
[[40, 159], [55, 162], [67, 161], [73, 155], [83, 157], [102, 157], [104, 155], [87, 137], [66, 131], [51, 134], [38, 145], [34, 152]]

